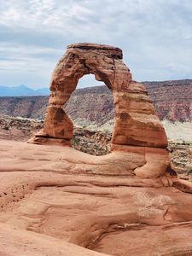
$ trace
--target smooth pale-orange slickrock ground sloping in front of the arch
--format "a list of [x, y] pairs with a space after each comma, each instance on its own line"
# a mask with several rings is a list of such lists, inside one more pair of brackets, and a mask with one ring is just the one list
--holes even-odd
[[192, 254], [190, 183], [137, 178], [124, 152], [0, 146], [0, 255]]

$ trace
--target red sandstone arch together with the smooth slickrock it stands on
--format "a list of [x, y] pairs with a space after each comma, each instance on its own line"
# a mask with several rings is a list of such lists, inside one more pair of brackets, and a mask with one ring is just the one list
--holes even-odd
[[0, 255], [191, 255], [192, 198], [181, 190], [192, 185], [169, 166], [165, 131], [121, 59], [117, 48], [70, 45], [33, 140], [69, 144], [73, 124], [62, 106], [94, 73], [113, 92], [110, 154], [0, 141]]

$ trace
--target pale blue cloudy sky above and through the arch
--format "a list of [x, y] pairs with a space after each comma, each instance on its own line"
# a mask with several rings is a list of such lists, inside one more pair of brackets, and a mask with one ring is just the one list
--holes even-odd
[[138, 81], [192, 79], [192, 1], [0, 0], [0, 85], [49, 86], [78, 42], [123, 49]]

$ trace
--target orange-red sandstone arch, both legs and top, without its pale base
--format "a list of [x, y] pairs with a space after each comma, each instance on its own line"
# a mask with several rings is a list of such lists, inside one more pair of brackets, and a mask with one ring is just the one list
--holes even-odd
[[49, 107], [44, 131], [37, 143], [54, 142], [69, 145], [73, 122], [63, 105], [84, 75], [92, 73], [113, 92], [115, 108], [112, 144], [166, 148], [166, 133], [154, 112], [143, 86], [132, 80], [122, 61], [122, 50], [103, 44], [70, 44], [57, 63], [50, 81]]

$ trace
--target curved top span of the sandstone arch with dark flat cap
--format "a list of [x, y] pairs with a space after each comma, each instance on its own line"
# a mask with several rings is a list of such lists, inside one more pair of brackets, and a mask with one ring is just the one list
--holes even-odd
[[110, 90], [122, 90], [131, 81], [131, 73], [122, 58], [121, 49], [106, 44], [69, 44], [65, 55], [55, 67], [50, 90], [57, 96], [59, 91], [61, 95], [70, 96], [79, 79], [90, 73], [95, 75], [96, 80], [104, 82]]

